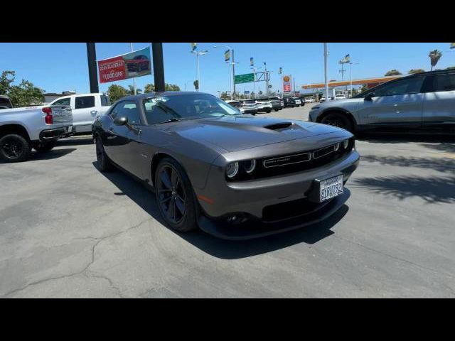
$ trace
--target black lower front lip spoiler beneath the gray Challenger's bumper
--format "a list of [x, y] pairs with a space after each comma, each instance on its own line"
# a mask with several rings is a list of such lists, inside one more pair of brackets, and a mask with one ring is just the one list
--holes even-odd
[[219, 222], [210, 220], [205, 215], [200, 215], [198, 224], [200, 229], [213, 237], [229, 240], [247, 240], [259, 237], [266, 237], [272, 234], [300, 229], [311, 224], [316, 224], [326, 220], [328, 217], [338, 211], [350, 197], [350, 190], [344, 188], [344, 193], [331, 200], [321, 210], [310, 212], [300, 217], [294, 217], [281, 222], [245, 222], [243, 224], [229, 224], [228, 222]]

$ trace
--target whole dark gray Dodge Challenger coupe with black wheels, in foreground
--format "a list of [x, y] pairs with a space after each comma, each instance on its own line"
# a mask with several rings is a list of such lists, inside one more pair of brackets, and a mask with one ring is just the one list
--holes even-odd
[[92, 134], [100, 171], [151, 186], [171, 228], [225, 239], [326, 219], [348, 199], [360, 158], [344, 129], [242, 114], [201, 92], [123, 97]]

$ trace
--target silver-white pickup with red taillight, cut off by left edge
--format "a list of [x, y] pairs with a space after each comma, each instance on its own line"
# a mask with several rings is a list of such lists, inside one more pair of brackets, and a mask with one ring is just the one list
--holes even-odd
[[19, 162], [31, 148], [50, 151], [55, 141], [70, 134], [71, 108], [65, 105], [33, 106], [0, 110], [0, 159]]

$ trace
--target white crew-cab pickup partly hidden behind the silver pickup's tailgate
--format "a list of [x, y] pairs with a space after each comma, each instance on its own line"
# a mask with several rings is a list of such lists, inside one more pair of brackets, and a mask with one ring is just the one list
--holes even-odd
[[73, 132], [91, 133], [95, 119], [107, 112], [109, 97], [104, 94], [70, 94], [58, 97], [49, 105], [68, 105], [73, 110]]

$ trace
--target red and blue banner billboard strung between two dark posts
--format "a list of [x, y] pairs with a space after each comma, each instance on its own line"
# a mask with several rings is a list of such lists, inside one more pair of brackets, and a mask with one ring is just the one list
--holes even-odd
[[150, 48], [98, 60], [100, 83], [151, 75]]

